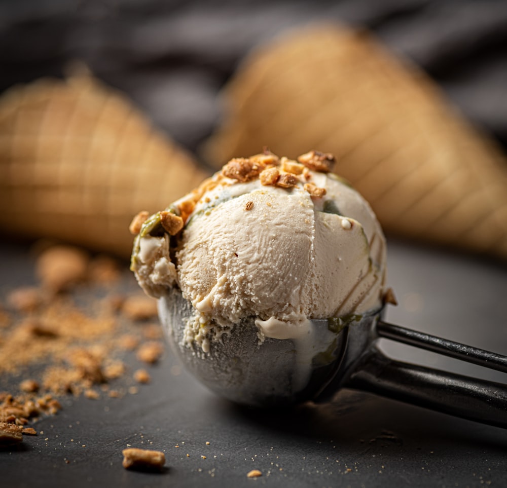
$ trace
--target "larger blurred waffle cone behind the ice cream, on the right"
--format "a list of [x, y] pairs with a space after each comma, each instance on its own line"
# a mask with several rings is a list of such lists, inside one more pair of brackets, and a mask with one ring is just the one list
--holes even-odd
[[507, 160], [421, 71], [333, 26], [251, 55], [205, 146], [220, 166], [259, 152], [333, 153], [384, 229], [507, 258]]

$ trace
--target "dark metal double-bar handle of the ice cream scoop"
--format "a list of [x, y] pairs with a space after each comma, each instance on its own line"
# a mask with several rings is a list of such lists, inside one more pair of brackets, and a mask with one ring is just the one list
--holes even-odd
[[324, 401], [339, 388], [351, 388], [507, 428], [504, 384], [393, 360], [378, 349], [380, 337], [507, 372], [506, 356], [378, 321], [363, 354], [344, 374], [338, 371], [316, 401]]

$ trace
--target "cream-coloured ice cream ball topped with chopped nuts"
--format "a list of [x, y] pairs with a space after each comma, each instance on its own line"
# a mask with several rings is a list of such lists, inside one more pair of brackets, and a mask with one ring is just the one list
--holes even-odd
[[299, 339], [308, 319], [380, 309], [385, 239], [332, 161], [315, 151], [233, 159], [137, 222], [131, 268], [148, 294], [176, 288], [191, 302], [188, 344], [206, 351], [245, 317], [256, 317], [261, 341]]

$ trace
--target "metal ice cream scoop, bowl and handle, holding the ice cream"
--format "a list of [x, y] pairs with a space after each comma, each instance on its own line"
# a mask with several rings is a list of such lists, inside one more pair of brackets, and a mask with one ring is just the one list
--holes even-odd
[[507, 372], [507, 357], [440, 339], [370, 315], [311, 320], [304, 339], [260, 341], [255, 317], [243, 319], [204, 353], [185, 341], [193, 308], [174, 290], [159, 300], [169, 342], [194, 376], [234, 402], [279, 407], [330, 400], [340, 388], [367, 391], [469, 420], [507, 428], [507, 386], [395, 361], [381, 337]]

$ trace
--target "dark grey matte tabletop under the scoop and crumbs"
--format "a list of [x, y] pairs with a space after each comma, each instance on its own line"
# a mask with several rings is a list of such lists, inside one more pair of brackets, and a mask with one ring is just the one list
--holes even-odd
[[[26, 248], [7, 244], [0, 251], [2, 293], [33, 282]], [[126, 282], [135, 286], [133, 279]], [[391, 242], [389, 283], [400, 305], [389, 308], [387, 320], [507, 353], [504, 265]], [[385, 343], [383, 349], [396, 358], [507, 380], [407, 346]], [[64, 399], [58, 415], [36, 424], [44, 434], [0, 450], [0, 486], [507, 484], [503, 429], [346, 390], [330, 404], [250, 410], [215, 397], [185, 371], [175, 375], [178, 367], [167, 348], [151, 369], [152, 383], [137, 395]], [[167, 469], [126, 471], [121, 451], [128, 444], [165, 451]], [[251, 469], [263, 476], [247, 478]]]

